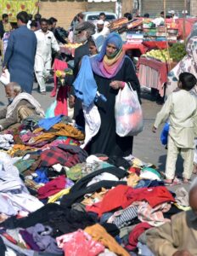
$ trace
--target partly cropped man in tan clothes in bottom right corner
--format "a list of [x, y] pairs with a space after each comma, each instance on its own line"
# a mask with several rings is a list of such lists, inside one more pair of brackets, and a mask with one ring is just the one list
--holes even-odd
[[172, 221], [148, 230], [147, 245], [160, 256], [197, 255], [197, 177], [189, 190], [191, 210], [172, 216]]

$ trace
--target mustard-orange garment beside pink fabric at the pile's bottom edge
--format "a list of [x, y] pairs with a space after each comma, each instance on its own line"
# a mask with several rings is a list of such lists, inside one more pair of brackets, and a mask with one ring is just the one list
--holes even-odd
[[92, 236], [94, 241], [99, 241], [104, 247], [108, 247], [111, 252], [121, 256], [129, 256], [129, 253], [101, 225], [94, 224], [93, 226], [87, 227], [84, 231]]

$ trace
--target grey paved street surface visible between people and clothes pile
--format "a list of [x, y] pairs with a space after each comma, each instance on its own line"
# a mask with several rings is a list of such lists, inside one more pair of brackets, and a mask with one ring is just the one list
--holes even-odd
[[[48, 84], [47, 95], [42, 96], [37, 92], [37, 84], [34, 84], [32, 95], [42, 104], [42, 108], [47, 110], [55, 98], [50, 97], [50, 91], [53, 90], [53, 84]], [[3, 85], [1, 84], [0, 109], [7, 104]], [[152, 133], [151, 128], [155, 120], [156, 113], [160, 111], [161, 106], [156, 102], [150, 101], [148, 92], [143, 93], [143, 110], [144, 110], [144, 131], [134, 138], [133, 155], [145, 162], [153, 163], [158, 167], [159, 171], [165, 171], [166, 165], [166, 149], [160, 143], [160, 129], [156, 134]], [[177, 161], [177, 172], [183, 172], [182, 160]], [[186, 186], [187, 188], [188, 186]], [[176, 189], [177, 186], [171, 187]]]

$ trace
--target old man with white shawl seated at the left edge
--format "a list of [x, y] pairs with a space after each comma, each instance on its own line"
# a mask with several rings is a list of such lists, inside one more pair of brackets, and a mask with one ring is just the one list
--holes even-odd
[[22, 92], [19, 84], [9, 83], [5, 92], [9, 103], [7, 108], [0, 110], [1, 131], [34, 114], [44, 117], [40, 103], [30, 94]]

